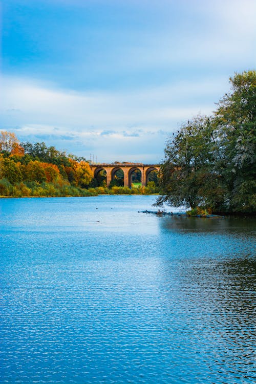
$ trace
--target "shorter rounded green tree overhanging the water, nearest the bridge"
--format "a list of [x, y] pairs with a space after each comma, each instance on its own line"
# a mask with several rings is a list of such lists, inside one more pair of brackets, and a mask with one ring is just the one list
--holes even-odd
[[223, 200], [223, 188], [214, 164], [218, 142], [214, 119], [197, 116], [184, 124], [165, 148], [161, 166], [161, 205], [214, 207]]

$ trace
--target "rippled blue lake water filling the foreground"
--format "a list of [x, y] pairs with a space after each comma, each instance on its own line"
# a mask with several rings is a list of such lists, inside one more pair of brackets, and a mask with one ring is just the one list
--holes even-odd
[[154, 200], [0, 199], [1, 382], [254, 382], [255, 221]]

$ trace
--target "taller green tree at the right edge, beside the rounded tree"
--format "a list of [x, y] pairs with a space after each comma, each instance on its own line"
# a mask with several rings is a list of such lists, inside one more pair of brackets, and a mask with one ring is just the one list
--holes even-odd
[[217, 164], [226, 187], [226, 209], [256, 208], [256, 71], [230, 77], [231, 92], [215, 112], [221, 161]]

